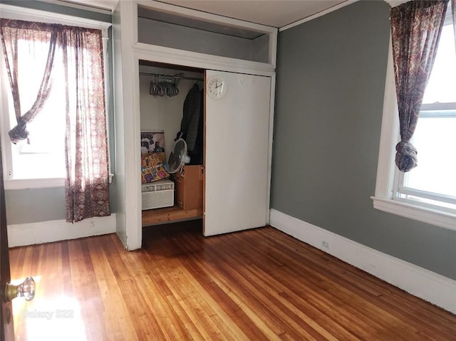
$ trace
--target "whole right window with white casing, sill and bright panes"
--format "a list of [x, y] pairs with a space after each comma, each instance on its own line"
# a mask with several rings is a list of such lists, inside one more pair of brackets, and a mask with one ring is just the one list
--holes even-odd
[[383, 103], [375, 209], [456, 230], [456, 49], [451, 8], [411, 140], [418, 167], [395, 167], [398, 110], [390, 48]]

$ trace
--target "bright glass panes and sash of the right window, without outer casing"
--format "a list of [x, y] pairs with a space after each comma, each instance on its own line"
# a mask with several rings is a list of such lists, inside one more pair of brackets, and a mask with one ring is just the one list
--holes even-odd
[[418, 167], [396, 170], [393, 199], [456, 210], [456, 53], [452, 22], [442, 28], [412, 144]]

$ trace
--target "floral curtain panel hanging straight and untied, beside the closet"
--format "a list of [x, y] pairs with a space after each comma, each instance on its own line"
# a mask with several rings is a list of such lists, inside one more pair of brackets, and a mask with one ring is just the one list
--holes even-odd
[[110, 215], [101, 31], [63, 27], [66, 73], [66, 220]]

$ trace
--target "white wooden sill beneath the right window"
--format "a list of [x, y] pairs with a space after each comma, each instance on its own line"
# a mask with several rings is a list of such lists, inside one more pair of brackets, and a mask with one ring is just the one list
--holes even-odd
[[371, 196], [374, 209], [456, 231], [456, 214]]

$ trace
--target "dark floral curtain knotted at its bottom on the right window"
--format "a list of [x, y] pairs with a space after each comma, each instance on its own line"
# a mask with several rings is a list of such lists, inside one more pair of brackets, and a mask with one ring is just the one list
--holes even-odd
[[391, 9], [393, 64], [398, 100], [400, 142], [395, 163], [401, 172], [417, 166], [410, 143], [420, 114], [427, 80], [442, 31], [448, 1], [408, 1]]

